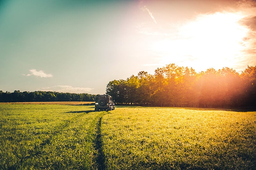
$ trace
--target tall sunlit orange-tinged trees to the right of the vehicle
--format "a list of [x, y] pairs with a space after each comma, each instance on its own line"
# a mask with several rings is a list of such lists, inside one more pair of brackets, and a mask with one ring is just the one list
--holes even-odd
[[117, 104], [161, 107], [255, 107], [256, 66], [241, 73], [228, 67], [193, 68], [169, 64], [155, 74], [141, 71], [126, 80], [110, 81], [106, 94]]

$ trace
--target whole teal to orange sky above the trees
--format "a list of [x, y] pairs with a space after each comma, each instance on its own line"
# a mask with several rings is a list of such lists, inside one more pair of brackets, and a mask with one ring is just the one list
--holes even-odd
[[256, 65], [256, 1], [0, 0], [0, 90], [104, 94], [174, 63]]

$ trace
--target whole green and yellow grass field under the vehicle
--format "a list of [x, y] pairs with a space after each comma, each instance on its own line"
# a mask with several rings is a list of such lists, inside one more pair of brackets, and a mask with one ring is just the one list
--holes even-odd
[[256, 169], [256, 112], [0, 104], [0, 169]]

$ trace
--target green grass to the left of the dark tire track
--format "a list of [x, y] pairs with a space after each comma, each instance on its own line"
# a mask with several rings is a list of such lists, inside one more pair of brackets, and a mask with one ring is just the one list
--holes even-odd
[[0, 105], [0, 169], [97, 168], [102, 112], [89, 106]]

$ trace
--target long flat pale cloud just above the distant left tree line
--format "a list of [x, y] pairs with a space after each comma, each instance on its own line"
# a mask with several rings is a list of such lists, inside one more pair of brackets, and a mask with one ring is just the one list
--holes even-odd
[[87, 93], [92, 91], [92, 88], [83, 88], [83, 87], [72, 87], [66, 85], [46, 87], [42, 89], [37, 89], [42, 91], [56, 91], [60, 93]]

